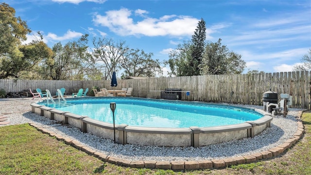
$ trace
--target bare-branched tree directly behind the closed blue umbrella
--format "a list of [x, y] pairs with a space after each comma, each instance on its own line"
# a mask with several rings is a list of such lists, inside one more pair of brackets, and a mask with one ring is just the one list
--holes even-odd
[[98, 63], [104, 63], [104, 80], [112, 78], [112, 72], [120, 70], [119, 63], [128, 57], [129, 48], [125, 41], [114, 42], [108, 38], [93, 38], [93, 57]]

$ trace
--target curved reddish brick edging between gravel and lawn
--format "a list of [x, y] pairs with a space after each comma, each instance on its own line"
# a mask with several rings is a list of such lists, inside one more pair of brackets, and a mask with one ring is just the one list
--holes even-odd
[[51, 132], [43, 127], [39, 127], [35, 123], [29, 123], [31, 126], [35, 127], [38, 131], [49, 134], [51, 137], [56, 137], [57, 140], [64, 141], [66, 144], [75, 147], [78, 150], [84, 151], [90, 156], [97, 157], [102, 161], [112, 163], [115, 165], [131, 167], [131, 168], [149, 168], [149, 169], [163, 169], [163, 170], [199, 170], [199, 169], [220, 169], [225, 168], [230, 165], [244, 164], [256, 162], [261, 159], [268, 159], [271, 157], [279, 156], [288, 148], [292, 147], [302, 136], [304, 135], [304, 126], [301, 120], [302, 112], [299, 112], [297, 118], [297, 131], [294, 136], [286, 140], [284, 143], [270, 148], [266, 151], [260, 153], [254, 153], [251, 155], [240, 156], [240, 157], [228, 157], [223, 159], [212, 159], [212, 160], [197, 160], [197, 161], [156, 161], [156, 160], [146, 160], [131, 161], [128, 159], [121, 159], [118, 157], [107, 156], [103, 153], [94, 151], [87, 146], [82, 145], [77, 140], [71, 140], [69, 138], [64, 138], [54, 132]]

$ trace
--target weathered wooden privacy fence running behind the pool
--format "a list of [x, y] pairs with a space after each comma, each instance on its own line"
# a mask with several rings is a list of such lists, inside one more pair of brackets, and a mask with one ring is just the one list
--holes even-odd
[[[264, 74], [201, 75], [183, 77], [161, 77], [118, 80], [117, 87], [110, 87], [110, 80], [70, 81], [70, 80], [0, 80], [0, 89], [18, 92], [25, 89], [49, 89], [56, 94], [57, 88], [66, 88], [66, 94], [77, 92], [79, 88], [97, 86], [107, 89], [133, 88], [134, 97], [160, 98], [160, 90], [181, 88], [190, 91], [190, 96], [182, 93], [182, 100], [263, 105], [263, 93], [270, 90], [293, 96], [292, 107], [310, 109], [309, 71], [277, 72]], [[231, 92], [233, 95], [231, 96]]]

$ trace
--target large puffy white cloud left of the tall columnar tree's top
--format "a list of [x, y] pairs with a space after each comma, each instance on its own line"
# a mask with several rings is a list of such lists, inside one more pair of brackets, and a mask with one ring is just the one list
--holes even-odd
[[[137, 10], [136, 13], [147, 14], [147, 11]], [[146, 36], [189, 36], [193, 34], [199, 19], [189, 16], [166, 15], [160, 18], [143, 17], [134, 22], [132, 12], [126, 8], [105, 12], [105, 15], [95, 14], [93, 22], [96, 25], [108, 27], [118, 35]], [[207, 36], [208, 37], [208, 36]]]

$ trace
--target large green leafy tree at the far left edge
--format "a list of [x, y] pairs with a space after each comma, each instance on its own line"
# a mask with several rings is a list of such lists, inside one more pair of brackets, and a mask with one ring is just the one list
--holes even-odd
[[14, 8], [0, 3], [0, 78], [33, 78], [34, 69], [50, 60], [51, 49], [42, 41], [21, 45], [31, 30], [25, 21], [15, 17]]

